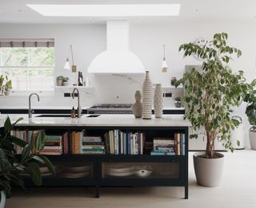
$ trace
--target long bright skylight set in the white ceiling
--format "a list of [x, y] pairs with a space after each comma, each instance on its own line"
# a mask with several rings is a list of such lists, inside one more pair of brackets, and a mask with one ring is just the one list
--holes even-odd
[[49, 5], [27, 4], [46, 17], [178, 16], [180, 4]]

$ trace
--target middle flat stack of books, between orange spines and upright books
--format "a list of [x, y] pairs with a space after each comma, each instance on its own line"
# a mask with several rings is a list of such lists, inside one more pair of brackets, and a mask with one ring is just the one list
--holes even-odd
[[82, 154], [103, 154], [104, 143], [100, 136], [83, 136], [82, 137]]

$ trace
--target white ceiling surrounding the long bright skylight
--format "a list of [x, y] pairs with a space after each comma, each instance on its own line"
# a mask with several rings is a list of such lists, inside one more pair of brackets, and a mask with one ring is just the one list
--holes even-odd
[[[156, 4], [180, 3], [178, 17], [88, 18], [43, 17], [26, 4]], [[0, 23], [102, 24], [127, 19], [138, 23], [166, 22], [256, 22], [255, 0], [0, 0]]]

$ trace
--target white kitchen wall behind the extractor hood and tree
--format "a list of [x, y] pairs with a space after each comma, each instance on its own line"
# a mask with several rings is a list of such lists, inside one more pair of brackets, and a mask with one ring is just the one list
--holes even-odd
[[[242, 57], [234, 59], [231, 64], [234, 71], [242, 69], [248, 81], [254, 79], [256, 57], [256, 27], [254, 24], [234, 23], [179, 23], [170, 25], [131, 25], [130, 26], [130, 50], [142, 60], [146, 69], [150, 70], [150, 77], [154, 83], [170, 84], [170, 77], [181, 77], [185, 65], [198, 65], [200, 62], [193, 57], [184, 59], [182, 53], [178, 53], [179, 45], [194, 41], [198, 37], [210, 39], [214, 33], [226, 32], [229, 34], [230, 45], [242, 50]], [[77, 74], [67, 73], [62, 68], [69, 53], [69, 45], [74, 47], [75, 64], [78, 70], [87, 77], [86, 68], [90, 61], [100, 52], [106, 49], [106, 26], [104, 25], [0, 25], [0, 38], [6, 37], [50, 37], [55, 39], [55, 63], [54, 75], [71, 77], [71, 82], [76, 82]], [[162, 45], [166, 45], [166, 61], [169, 65], [168, 73], [161, 73]], [[134, 92], [142, 84], [142, 76], [120, 77], [114, 75], [92, 76], [90, 83], [94, 90], [82, 92], [82, 106], [90, 106], [93, 103], [133, 103]], [[62, 97], [62, 90], [56, 90], [54, 96], [42, 97], [34, 106], [68, 107], [75, 104], [70, 98]], [[166, 102], [171, 105], [172, 102]], [[0, 108], [10, 106], [27, 106], [27, 97], [0, 97]], [[249, 128], [244, 114], [246, 104], [238, 108], [236, 112], [244, 117], [246, 132]], [[246, 135], [247, 136], [247, 135]]]

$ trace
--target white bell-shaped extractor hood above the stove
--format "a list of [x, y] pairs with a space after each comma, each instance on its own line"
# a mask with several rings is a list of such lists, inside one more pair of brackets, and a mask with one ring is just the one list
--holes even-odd
[[142, 61], [129, 50], [129, 22], [106, 22], [106, 51], [91, 61], [88, 73], [145, 73]]

